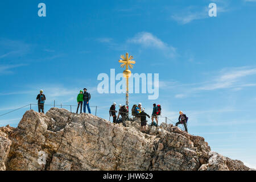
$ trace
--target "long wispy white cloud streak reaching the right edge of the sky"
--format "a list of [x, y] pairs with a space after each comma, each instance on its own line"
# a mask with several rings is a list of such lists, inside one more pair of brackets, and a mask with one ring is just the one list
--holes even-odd
[[[256, 82], [251, 82], [251, 77], [256, 75], [256, 68], [238, 67], [225, 68], [221, 71], [213, 72], [206, 81], [197, 83], [181, 84], [177, 81], [160, 81], [160, 89], [175, 89], [175, 98], [185, 98], [195, 93], [213, 91], [220, 89], [230, 89], [239, 91], [246, 87], [256, 86]], [[188, 88], [188, 89], [184, 89]]]

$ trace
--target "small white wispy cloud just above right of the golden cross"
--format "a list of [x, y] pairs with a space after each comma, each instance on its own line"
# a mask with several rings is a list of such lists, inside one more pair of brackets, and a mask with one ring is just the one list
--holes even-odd
[[127, 40], [128, 43], [140, 44], [144, 48], [156, 48], [170, 57], [176, 55], [176, 48], [164, 43], [162, 40], [152, 35], [150, 32], [139, 32], [133, 38]]

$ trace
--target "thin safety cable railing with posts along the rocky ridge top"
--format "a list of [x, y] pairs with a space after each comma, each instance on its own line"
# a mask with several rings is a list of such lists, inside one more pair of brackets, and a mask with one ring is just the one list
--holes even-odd
[[[28, 106], [30, 106], [30, 110], [31, 110], [33, 105], [40, 105], [40, 104], [28, 104], [28, 105], [26, 105], [26, 106], [22, 106], [22, 107], [19, 107], [19, 108], [17, 108], [17, 109], [11, 110], [11, 111], [9, 111], [9, 112], [7, 112], [7, 113], [1, 114], [0, 117], [2, 117], [3, 115], [9, 114], [9, 113], [13, 113], [13, 112], [16, 111], [16, 110], [20, 110], [20, 109], [23, 109], [24, 107], [28, 107]], [[72, 113], [72, 107], [78, 107], [77, 105], [63, 105], [63, 104], [57, 105], [57, 104], [55, 104], [55, 102], [54, 102], [54, 104], [42, 104], [42, 105], [44, 105], [44, 106], [53, 106], [53, 107], [60, 106], [60, 108], [63, 108], [63, 107], [70, 107], [71, 113]], [[127, 112], [123, 112], [123, 111], [109, 110], [109, 109], [106, 109], [106, 108], [104, 108], [104, 107], [99, 107], [99, 106], [90, 106], [90, 107], [95, 107], [95, 108], [96, 108], [96, 109], [95, 109], [95, 115], [96, 115], [96, 116], [97, 116], [97, 109], [103, 109], [103, 110], [108, 110], [108, 111], [114, 111], [114, 112], [117, 112], [117, 113], [125, 113], [125, 114], [128, 114], [127, 116], [129, 116], [129, 117], [134, 117], [133, 114], [130, 114], [130, 113], [127, 113]], [[175, 124], [175, 122], [172, 121], [171, 119], [169, 119], [168, 117], [158, 116], [158, 118], [165, 118], [165, 123], [168, 123], [168, 121], [171, 121], [172, 123]], [[110, 117], [109, 117], [109, 121], [110, 121]], [[183, 125], [182, 125], [182, 126], [183, 126]], [[179, 127], [180, 129], [182, 129], [180, 126], [178, 126], [178, 127]], [[184, 130], [184, 126], [183, 126], [183, 130]]]

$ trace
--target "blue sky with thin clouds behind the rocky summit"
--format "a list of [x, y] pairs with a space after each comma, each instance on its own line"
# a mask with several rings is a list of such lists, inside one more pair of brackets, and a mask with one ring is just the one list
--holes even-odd
[[[217, 17], [208, 16], [211, 2]], [[76, 105], [86, 87], [108, 119], [125, 95], [99, 94], [97, 76], [122, 73], [119, 56], [129, 52], [133, 73], [159, 73], [158, 100], [130, 94], [130, 105], [142, 102], [151, 114], [156, 102], [175, 122], [183, 110], [189, 133], [256, 168], [255, 10], [253, 0], [1, 1], [0, 115], [36, 103], [40, 89], [46, 104]], [[1, 117], [0, 126], [16, 127], [27, 109]]]

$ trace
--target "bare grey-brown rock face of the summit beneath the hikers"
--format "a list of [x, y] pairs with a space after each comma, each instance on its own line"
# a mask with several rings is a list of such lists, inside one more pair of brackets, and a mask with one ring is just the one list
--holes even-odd
[[250, 170], [210, 151], [202, 137], [162, 123], [113, 124], [92, 114], [27, 111], [0, 128], [0, 170]]

